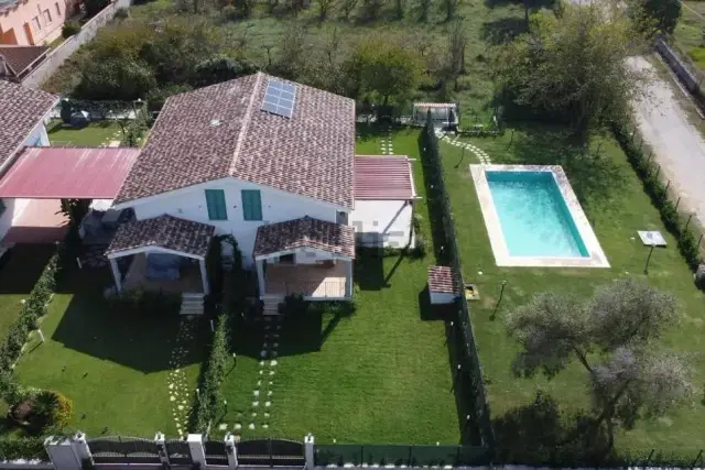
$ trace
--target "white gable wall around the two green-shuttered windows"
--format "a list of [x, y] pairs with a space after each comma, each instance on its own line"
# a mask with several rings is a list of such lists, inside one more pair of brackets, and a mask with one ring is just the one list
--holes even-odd
[[[225, 192], [228, 220], [208, 219], [205, 189], [223, 189]], [[260, 190], [262, 198], [261, 221], [248, 221], [242, 218], [242, 197], [240, 194], [242, 189]], [[182, 219], [210, 223], [216, 227], [217, 234], [230, 233], [236, 238], [247, 265], [252, 263], [252, 250], [258, 227], [304, 216], [335, 222], [338, 211], [338, 208], [315, 199], [286, 194], [235, 178], [189, 186], [167, 195], [156, 195], [152, 198], [128, 203], [124, 206], [134, 209], [138, 220], [169, 214]]]

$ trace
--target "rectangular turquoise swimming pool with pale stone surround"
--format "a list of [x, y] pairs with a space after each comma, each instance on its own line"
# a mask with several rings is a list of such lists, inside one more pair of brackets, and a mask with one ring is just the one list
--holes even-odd
[[497, 265], [608, 267], [560, 166], [470, 165]]

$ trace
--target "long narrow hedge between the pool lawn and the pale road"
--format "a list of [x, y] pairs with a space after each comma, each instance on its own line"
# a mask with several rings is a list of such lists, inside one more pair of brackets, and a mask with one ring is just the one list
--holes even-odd
[[688, 266], [692, 270], [696, 270], [697, 265], [703, 262], [696, 236], [682, 223], [679, 211], [669, 199], [668, 187], [659, 179], [658, 173], [654, 173], [653, 166], [644, 155], [641, 145], [637, 146], [634, 144], [633, 136], [636, 131], [630, 134], [623, 122], [615, 122], [612, 124], [612, 133], [627, 155], [627, 160], [629, 160], [629, 163], [631, 163], [631, 166], [641, 178], [646, 193], [661, 212], [661, 219], [666, 230], [677, 240], [681, 254], [685, 258]]

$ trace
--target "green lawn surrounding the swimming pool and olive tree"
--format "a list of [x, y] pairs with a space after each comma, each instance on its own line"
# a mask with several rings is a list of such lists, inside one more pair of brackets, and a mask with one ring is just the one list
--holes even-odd
[[[468, 139], [469, 140], [469, 139]], [[593, 142], [592, 155], [564, 145], [563, 139], [544, 128], [518, 129], [497, 139], [473, 139], [485, 150], [492, 163], [563, 164], [571, 184], [595, 230], [611, 269], [530, 269], [497, 267], [487, 237], [485, 222], [469, 176], [469, 163], [478, 163], [460, 149], [441, 143], [447, 176], [456, 237], [466, 282], [476, 283], [481, 299], [470, 304], [475, 334], [487, 379], [487, 391], [496, 425], [510, 412], [530, 405], [539, 391], [555, 398], [563, 412], [587, 409], [589, 402], [579, 365], [561, 372], [554, 380], [542, 376], [518, 379], [510, 365], [518, 347], [507, 337], [502, 313], [528, 302], [535, 293], [557, 291], [588, 296], [600, 284], [618, 276], [639, 280], [672, 292], [682, 308], [682, 323], [665, 335], [664, 347], [677, 351], [701, 353], [695, 358], [694, 385], [698, 395], [692, 406], [684, 406], [659, 419], [641, 419], [636, 429], [620, 433], [618, 450], [651, 448], [664, 451], [686, 451], [693, 455], [705, 445], [703, 420], [705, 402], [705, 296], [693, 285], [692, 273], [679, 254], [674, 239], [665, 231], [657, 209], [643, 193], [641, 182], [618, 145], [604, 138]], [[643, 275], [648, 249], [642, 247], [637, 230], [660, 230], [669, 247], [653, 253], [649, 275]], [[481, 272], [481, 274], [480, 274]], [[502, 281], [507, 281], [502, 303], [492, 320]], [[538, 429], [527, 429], [528, 434]], [[505, 436], [506, 438], [507, 436]], [[502, 436], [497, 436], [501, 441]], [[519, 442], [505, 441], [512, 446]]]

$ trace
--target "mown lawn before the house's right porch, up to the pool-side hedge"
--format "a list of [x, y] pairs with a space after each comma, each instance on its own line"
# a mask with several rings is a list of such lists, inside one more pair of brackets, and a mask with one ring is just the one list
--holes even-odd
[[[378, 135], [365, 129], [359, 132], [358, 152], [379, 153]], [[417, 134], [417, 130], [395, 133], [395, 153], [416, 156]], [[420, 162], [414, 170], [416, 189], [423, 195]], [[429, 233], [425, 203], [420, 201], [416, 209], [424, 217], [422, 231]], [[236, 331], [237, 365], [224, 384], [228, 413], [221, 422], [228, 430], [240, 423], [243, 438], [301, 439], [313, 433], [318, 442], [457, 444], [444, 325], [426, 319], [422, 307], [431, 263], [431, 252], [423, 260], [358, 258], [355, 313], [327, 313], [285, 325], [279, 364], [271, 378], [269, 369], [259, 374], [261, 330]], [[265, 418], [269, 380], [273, 395], [271, 416]], [[258, 381], [262, 383], [256, 398], [252, 392]], [[256, 400], [260, 405], [253, 409]], [[250, 423], [254, 430], [248, 429]], [[269, 428], [263, 429], [263, 424]]]

